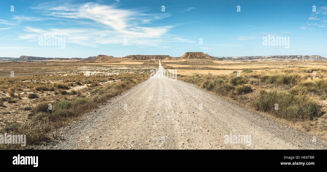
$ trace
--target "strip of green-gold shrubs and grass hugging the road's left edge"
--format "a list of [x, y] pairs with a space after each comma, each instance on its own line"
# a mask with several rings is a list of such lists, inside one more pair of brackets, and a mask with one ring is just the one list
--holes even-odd
[[[28, 133], [26, 134], [27, 145], [32, 145], [44, 139], [50, 139], [56, 136], [55, 129], [64, 126], [74, 118], [89, 112], [110, 98], [125, 92], [147, 78], [148, 76], [145, 74], [131, 74], [129, 77], [123, 77], [120, 81], [96, 88], [96, 91], [91, 91], [93, 95], [90, 97], [40, 102], [31, 109], [31, 113], [29, 114], [30, 120], [28, 122], [10, 124], [2, 129], [0, 133]], [[76, 92], [73, 92], [73, 95], [75, 94]], [[51, 110], [48, 109], [49, 104], [52, 105]], [[22, 147], [13, 144], [0, 145], [0, 149], [8, 148]]]

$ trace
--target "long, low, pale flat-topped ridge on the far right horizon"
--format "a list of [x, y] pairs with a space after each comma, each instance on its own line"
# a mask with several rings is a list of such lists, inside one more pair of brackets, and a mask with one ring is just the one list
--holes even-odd
[[327, 60], [321, 56], [313, 55], [301, 55], [301, 56], [244, 56], [244, 57], [215, 57], [219, 60], [233, 60], [233, 61], [244, 61], [244, 60]]

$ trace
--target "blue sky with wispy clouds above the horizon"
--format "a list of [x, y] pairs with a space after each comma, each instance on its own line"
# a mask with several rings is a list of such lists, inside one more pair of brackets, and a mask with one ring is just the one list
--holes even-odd
[[[0, 4], [0, 57], [180, 57], [200, 51], [215, 57], [327, 58], [327, 2], [321, 0], [12, 0]], [[289, 37], [289, 48], [264, 46], [268, 34]], [[65, 47], [40, 46], [43, 35], [64, 37]]]

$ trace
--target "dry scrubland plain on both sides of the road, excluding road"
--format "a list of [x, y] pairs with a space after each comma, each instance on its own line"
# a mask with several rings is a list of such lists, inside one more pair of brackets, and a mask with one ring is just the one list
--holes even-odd
[[[178, 80], [194, 84], [288, 127], [326, 138], [325, 60], [172, 59], [161, 60], [161, 64], [164, 69], [176, 69]], [[0, 62], [0, 132], [37, 132], [35, 135], [38, 136], [33, 136], [30, 144], [56, 137], [58, 128], [76, 121], [112, 97], [147, 80], [150, 70], [158, 66], [159, 60], [127, 59]], [[312, 75], [313, 71], [315, 76]], [[237, 77], [237, 73], [241, 77]], [[313, 106], [314, 110], [303, 112], [310, 113], [308, 116], [297, 117], [288, 116], [287, 111], [275, 112], [275, 103], [264, 107], [266, 105], [261, 102], [267, 101], [263, 97], [270, 93], [276, 97], [291, 94], [293, 97], [290, 97], [289, 103], [294, 107], [303, 97], [310, 98], [314, 104], [306, 108]], [[308, 103], [303, 102], [305, 105]], [[50, 104], [52, 108], [60, 109], [57, 116], [53, 116]], [[302, 111], [301, 107], [297, 111]], [[26, 124], [35, 128], [31, 130]], [[36, 131], [38, 129], [40, 131]]]

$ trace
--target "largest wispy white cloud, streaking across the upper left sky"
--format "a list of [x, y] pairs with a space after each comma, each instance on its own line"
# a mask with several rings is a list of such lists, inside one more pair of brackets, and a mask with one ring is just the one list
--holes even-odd
[[[86, 6], [89, 6], [89, 10], [86, 10]], [[168, 42], [191, 42], [169, 34], [169, 30], [174, 26], [144, 26], [144, 24], [151, 24], [152, 21], [170, 17], [171, 14], [168, 12], [145, 13], [140, 9], [119, 9], [115, 6], [94, 3], [52, 8], [44, 6], [33, 9], [42, 10], [42, 15], [45, 16], [68, 19], [70, 23], [83, 23], [85, 27], [40, 29], [26, 26], [24, 28], [26, 33], [20, 34], [19, 39], [34, 41], [43, 35], [63, 36], [66, 37], [66, 43], [91, 47], [97, 47], [100, 44], [124, 45], [124, 40], [127, 40], [127, 45], [160, 47], [169, 47], [165, 45]], [[87, 23], [89, 23], [88, 26], [86, 26]]]

